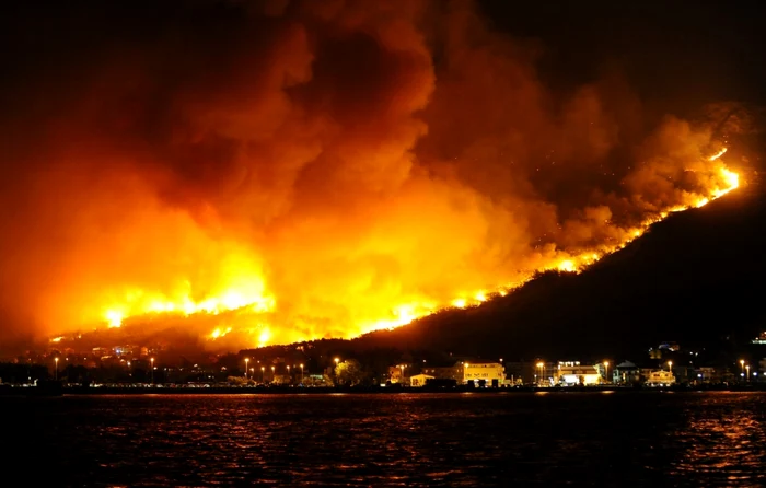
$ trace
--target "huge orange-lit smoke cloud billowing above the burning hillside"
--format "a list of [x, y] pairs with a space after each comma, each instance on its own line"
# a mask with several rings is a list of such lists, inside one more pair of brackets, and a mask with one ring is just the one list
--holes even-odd
[[546, 90], [538, 46], [464, 1], [105, 2], [7, 27], [5, 337], [148, 312], [236, 347], [356, 336], [726, 183], [711, 129], [647, 130], [618, 73]]

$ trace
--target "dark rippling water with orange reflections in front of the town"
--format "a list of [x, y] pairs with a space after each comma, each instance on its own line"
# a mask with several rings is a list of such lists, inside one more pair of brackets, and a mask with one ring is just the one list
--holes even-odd
[[7, 397], [0, 409], [9, 487], [766, 485], [764, 393]]

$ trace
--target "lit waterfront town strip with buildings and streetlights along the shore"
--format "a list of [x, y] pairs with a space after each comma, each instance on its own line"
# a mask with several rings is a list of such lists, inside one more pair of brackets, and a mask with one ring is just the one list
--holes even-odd
[[[86, 351], [48, 348], [4, 358], [0, 385], [28, 388], [40, 382], [65, 387], [374, 387], [567, 388], [705, 387], [766, 385], [766, 332], [736, 358], [706, 359], [676, 342], [630, 359], [477, 358], [449, 353], [384, 351], [353, 355], [324, 341], [210, 356], [207, 362], [171, 358], [162, 347], [113, 346]], [[763, 348], [763, 350], [762, 350]], [[703, 352], [700, 358], [700, 352]], [[413, 388], [413, 390], [410, 390]]]

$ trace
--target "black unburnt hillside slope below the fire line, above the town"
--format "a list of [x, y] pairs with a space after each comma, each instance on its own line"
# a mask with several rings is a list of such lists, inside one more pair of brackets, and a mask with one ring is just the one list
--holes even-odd
[[766, 198], [756, 171], [743, 176], [742, 188], [670, 216], [579, 275], [546, 272], [481, 306], [353, 342], [510, 360], [630, 357], [666, 340], [745, 341], [766, 328]]

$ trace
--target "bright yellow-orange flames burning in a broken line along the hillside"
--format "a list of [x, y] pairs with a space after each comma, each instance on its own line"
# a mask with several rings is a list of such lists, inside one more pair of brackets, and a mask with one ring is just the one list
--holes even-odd
[[[363, 307], [369, 307], [373, 312], [368, 314], [364, 319], [347, 324], [344, 337], [352, 337], [376, 329], [398, 327], [445, 307], [465, 309], [479, 305], [495, 294], [506, 295], [510, 290], [529, 280], [535, 271], [580, 272], [603, 256], [620, 249], [632, 240], [640, 237], [652, 223], [664, 219], [670, 212], [701, 207], [736, 189], [740, 185], [739, 175], [729, 170], [723, 163], [717, 162], [726, 151], [727, 149], [723, 148], [708, 159], [710, 163], [716, 163], [706, 169], [713, 177], [710, 179], [711, 186], [706, 189], [704, 195], [690, 197], [685, 205], [676, 205], [664, 209], [647, 218], [635, 228], [622, 229], [619, 232], [622, 240], [617, 243], [594, 246], [576, 254], [554, 249], [544, 258], [539, 256], [542, 259], [537, 268], [527, 269], [513, 277], [513, 282], [496, 283], [494, 288], [455, 293], [455, 297], [452, 299], [443, 295], [423, 295], [411, 301], [397, 303], [397, 297], [390, 295], [382, 298], [382, 300], [376, 298], [381, 302], [376, 304], [378, 306], [370, 306], [369, 300], [359, 297], [359, 305], [349, 302], [346, 304], [348, 310], [359, 313], [357, 316], [364, 316], [362, 310], [360, 310]], [[254, 271], [252, 266], [248, 266], [249, 262], [246, 258], [236, 255], [222, 256], [221, 263], [228, 263], [228, 266], [221, 284], [218, 287], [218, 294], [211, 294], [200, 301], [194, 301], [189, 294], [190, 283], [188, 281], [184, 281], [179, 287], [178, 293], [174, 295], [134, 289], [126, 293], [124, 301], [105, 304], [103, 318], [109, 327], [119, 327], [124, 318], [146, 314], [183, 314], [189, 316], [195, 314], [219, 315], [222, 312], [236, 311], [239, 318], [227, 318], [229, 321], [233, 319], [234, 325], [216, 326], [211, 332], [204, 333], [204, 337], [210, 341], [222, 340], [230, 333], [235, 332], [236, 340], [242, 341], [240, 342], [242, 347], [260, 347], [272, 342], [287, 342], [315, 337], [309, 334], [290, 334], [289, 328], [278, 322], [279, 318], [276, 318], [276, 322], [271, 322], [275, 319], [275, 315], [278, 317], [278, 301], [272, 294], [267, 292], [264, 276]], [[242, 316], [245, 318], [243, 319]], [[257, 325], [253, 326], [254, 323]], [[276, 335], [271, 334], [272, 329], [277, 330]], [[58, 339], [60, 340], [60, 338]]]

